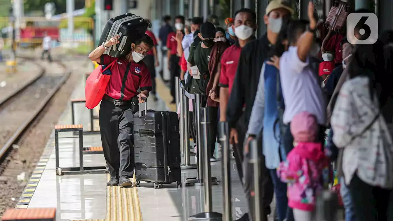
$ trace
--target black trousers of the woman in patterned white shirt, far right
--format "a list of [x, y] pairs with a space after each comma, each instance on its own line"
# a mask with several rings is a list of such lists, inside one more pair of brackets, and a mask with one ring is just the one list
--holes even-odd
[[[356, 173], [348, 186], [357, 221], [388, 221], [389, 198], [392, 190], [371, 186]], [[393, 203], [393, 202], [390, 202]]]

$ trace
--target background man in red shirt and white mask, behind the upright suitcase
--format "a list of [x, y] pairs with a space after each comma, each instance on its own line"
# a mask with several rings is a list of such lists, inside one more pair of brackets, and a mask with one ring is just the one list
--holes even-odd
[[174, 27], [176, 28], [175, 32], [169, 33], [167, 37], [167, 57], [168, 57], [168, 68], [169, 72], [171, 72], [171, 80], [169, 87], [171, 88], [171, 95], [172, 95], [172, 102], [175, 103], [175, 77], [180, 76], [180, 56], [177, 48], [178, 42], [176, 41], [177, 38], [184, 36], [184, 16], [178, 15], [174, 18]]

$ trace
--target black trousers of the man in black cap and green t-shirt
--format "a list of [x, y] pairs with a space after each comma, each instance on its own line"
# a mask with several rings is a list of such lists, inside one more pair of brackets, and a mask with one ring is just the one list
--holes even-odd
[[[206, 107], [208, 101], [208, 97], [205, 95], [202, 95], [202, 102], [201, 102], [201, 107]], [[193, 106], [193, 117], [192, 119], [192, 125], [193, 125], [193, 134], [197, 136], [196, 134], [196, 125], [195, 125], [195, 105]], [[218, 120], [218, 107], [208, 107], [208, 114], [209, 114], [209, 119], [210, 119], [210, 124], [208, 127], [208, 146], [210, 148], [210, 156], [213, 157], [214, 155], [214, 150], [216, 147], [216, 140], [217, 140], [217, 120]]]

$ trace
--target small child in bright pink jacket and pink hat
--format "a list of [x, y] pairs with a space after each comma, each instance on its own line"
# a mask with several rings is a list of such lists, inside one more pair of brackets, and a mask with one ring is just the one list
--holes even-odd
[[318, 136], [316, 118], [301, 112], [290, 124], [294, 137], [294, 149], [286, 162], [281, 162], [277, 175], [288, 183], [288, 206], [293, 208], [295, 221], [315, 220], [315, 198], [322, 190], [322, 170], [326, 158], [322, 144], [315, 142]]

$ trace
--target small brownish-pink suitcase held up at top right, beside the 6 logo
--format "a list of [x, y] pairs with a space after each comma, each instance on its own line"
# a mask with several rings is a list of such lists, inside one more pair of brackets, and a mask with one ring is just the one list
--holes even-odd
[[326, 18], [326, 24], [336, 31], [342, 28], [349, 14], [349, 5], [346, 2], [334, 1]]

